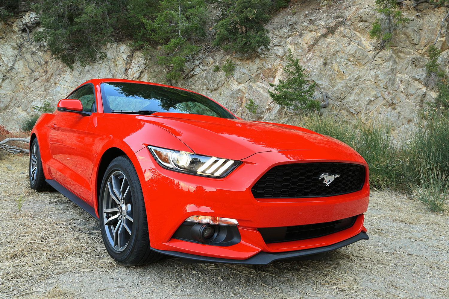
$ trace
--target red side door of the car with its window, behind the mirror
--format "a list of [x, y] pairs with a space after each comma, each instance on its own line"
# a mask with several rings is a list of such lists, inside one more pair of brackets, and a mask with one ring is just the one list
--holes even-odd
[[[72, 92], [67, 99], [78, 99], [83, 111], [95, 112], [95, 95], [92, 84], [86, 84]], [[90, 116], [74, 112], [57, 111], [50, 124], [50, 169], [53, 177], [67, 189], [87, 202], [92, 200], [88, 178], [92, 169], [88, 169], [86, 147], [86, 128]], [[90, 172], [89, 172], [90, 171]]]

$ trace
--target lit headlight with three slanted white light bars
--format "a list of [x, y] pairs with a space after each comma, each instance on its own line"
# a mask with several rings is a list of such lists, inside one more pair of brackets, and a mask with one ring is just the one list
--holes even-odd
[[240, 165], [240, 161], [196, 155], [167, 148], [148, 146], [148, 149], [159, 165], [183, 173], [223, 178]]

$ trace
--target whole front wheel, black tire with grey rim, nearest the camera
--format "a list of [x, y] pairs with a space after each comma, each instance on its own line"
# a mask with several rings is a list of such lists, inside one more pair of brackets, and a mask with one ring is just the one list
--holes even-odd
[[[114, 189], [114, 182], [116, 182], [115, 186], [121, 186], [119, 190], [117, 190], [118, 188]], [[129, 189], [127, 186], [129, 186]], [[110, 194], [110, 188], [112, 188], [112, 192], [120, 204]], [[130, 195], [124, 189], [128, 189], [128, 192], [131, 192]], [[120, 192], [120, 198], [115, 190]], [[131, 206], [129, 206], [130, 204]], [[105, 209], [115, 209], [114, 205], [117, 212], [104, 212]], [[150, 249], [142, 187], [136, 169], [134, 169], [131, 160], [127, 156], [115, 158], [106, 169], [101, 182], [98, 208], [103, 242], [109, 255], [119, 264], [127, 266], [149, 264], [158, 261], [162, 257], [160, 253]], [[128, 219], [129, 217], [131, 217], [132, 221]], [[114, 227], [115, 221], [117, 222]], [[128, 233], [129, 230], [131, 234]], [[116, 234], [115, 231], [118, 233]], [[119, 234], [120, 237], [118, 236]], [[127, 236], [128, 239], [126, 238]], [[118, 239], [117, 245], [115, 245], [116, 239]]]

